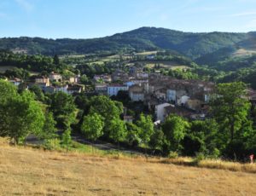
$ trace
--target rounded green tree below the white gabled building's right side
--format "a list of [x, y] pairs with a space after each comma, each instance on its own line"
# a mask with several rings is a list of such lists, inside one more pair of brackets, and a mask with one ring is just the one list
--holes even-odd
[[180, 151], [183, 148], [181, 141], [183, 140], [188, 127], [189, 123], [175, 114], [166, 118], [166, 121], [162, 124], [162, 130], [166, 135], [166, 145], [168, 146], [168, 150]]

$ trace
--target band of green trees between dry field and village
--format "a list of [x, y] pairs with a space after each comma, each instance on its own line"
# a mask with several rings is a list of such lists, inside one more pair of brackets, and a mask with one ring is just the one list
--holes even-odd
[[[212, 95], [211, 118], [189, 121], [171, 114], [154, 126], [153, 117], [143, 113], [133, 123], [125, 123], [122, 102], [107, 96], [44, 95], [37, 87], [18, 92], [14, 85], [0, 81], [0, 135], [15, 144], [26, 142], [27, 135], [38, 135], [49, 148], [50, 141], [60, 138], [68, 148], [71, 133], [79, 131], [85, 139], [125, 143], [164, 156], [244, 160], [256, 150], [256, 109], [243, 98], [245, 89], [242, 83], [219, 84]], [[62, 135], [56, 130], [63, 130]]]

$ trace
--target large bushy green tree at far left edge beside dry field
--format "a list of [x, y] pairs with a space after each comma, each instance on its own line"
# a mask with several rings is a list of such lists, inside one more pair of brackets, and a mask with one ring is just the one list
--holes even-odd
[[24, 140], [28, 134], [42, 131], [44, 112], [29, 91], [16, 95], [1, 106], [1, 135], [9, 135], [15, 144]]

